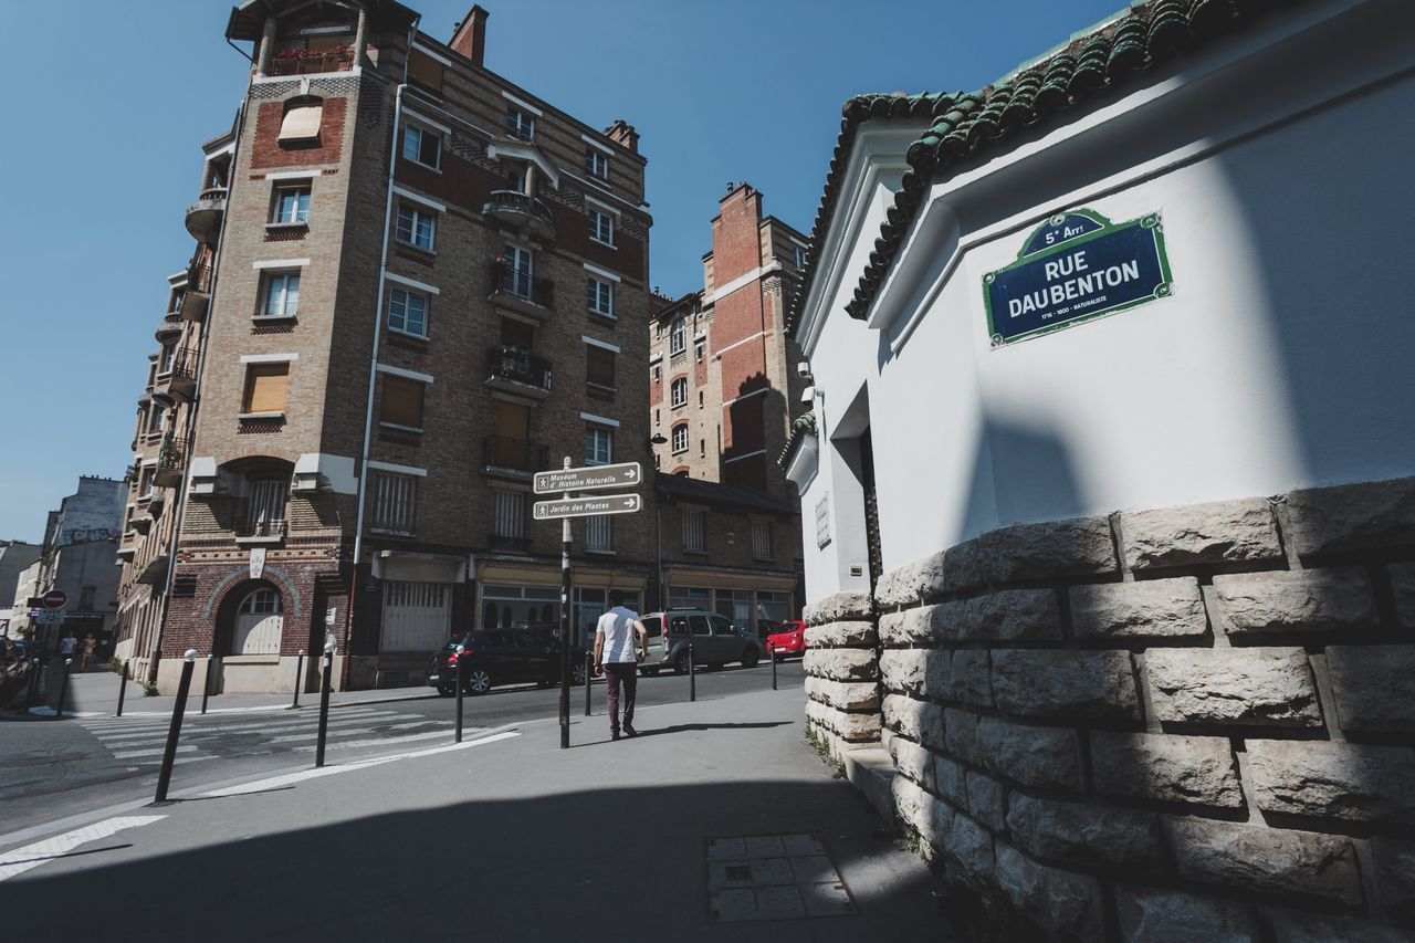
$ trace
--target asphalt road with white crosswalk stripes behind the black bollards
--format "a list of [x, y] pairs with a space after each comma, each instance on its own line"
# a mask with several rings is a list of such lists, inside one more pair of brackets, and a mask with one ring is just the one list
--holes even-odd
[[[698, 699], [705, 718], [712, 702], [770, 690], [771, 665], [698, 671]], [[799, 688], [801, 663], [778, 665], [782, 690]], [[389, 695], [398, 695], [389, 691]], [[456, 698], [427, 697], [427, 688], [408, 688], [409, 699], [355, 704], [330, 711], [327, 762], [341, 763], [453, 741]], [[689, 680], [679, 675], [640, 678], [644, 707], [688, 701]], [[140, 702], [139, 702], [140, 704]], [[212, 699], [212, 708], [221, 698]], [[570, 691], [572, 743], [607, 733], [604, 684], [591, 688], [593, 716], [584, 716], [584, 688]], [[467, 697], [467, 731], [553, 718], [559, 688], [519, 685]], [[226, 782], [314, 765], [317, 699], [299, 711], [269, 709], [241, 714], [192, 715], [183, 725], [173, 789]], [[582, 724], [586, 729], [579, 729]], [[35, 823], [150, 797], [156, 789], [167, 718], [17, 719], [0, 715], [0, 833]], [[640, 725], [641, 729], [642, 725]]]

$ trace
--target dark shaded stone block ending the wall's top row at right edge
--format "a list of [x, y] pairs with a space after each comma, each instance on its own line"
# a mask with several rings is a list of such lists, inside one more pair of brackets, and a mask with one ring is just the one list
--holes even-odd
[[1288, 507], [1302, 556], [1415, 545], [1415, 479], [1292, 491]]

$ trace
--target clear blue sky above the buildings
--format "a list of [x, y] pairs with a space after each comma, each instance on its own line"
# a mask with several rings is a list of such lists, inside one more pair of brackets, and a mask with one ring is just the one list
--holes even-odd
[[[405, 0], [451, 35], [471, 0]], [[700, 287], [729, 180], [808, 231], [860, 92], [972, 89], [1122, 0], [483, 0], [487, 67], [584, 122], [642, 135], [652, 283]], [[192, 242], [198, 146], [231, 126], [245, 61], [211, 0], [6, 6], [0, 86], [0, 538], [37, 541], [79, 474], [132, 462], [164, 276]]]

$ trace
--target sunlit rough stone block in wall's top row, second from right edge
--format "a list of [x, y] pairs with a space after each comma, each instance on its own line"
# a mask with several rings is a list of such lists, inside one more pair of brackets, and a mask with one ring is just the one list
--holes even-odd
[[1282, 558], [1266, 498], [1129, 511], [1121, 531], [1133, 571]]

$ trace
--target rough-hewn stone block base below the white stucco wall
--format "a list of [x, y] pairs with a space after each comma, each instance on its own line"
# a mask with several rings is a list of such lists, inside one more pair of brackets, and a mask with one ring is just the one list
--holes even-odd
[[1415, 479], [1006, 527], [874, 602], [877, 675], [812, 610], [811, 725], [870, 736], [879, 678], [896, 813], [995, 912], [1415, 939]]

